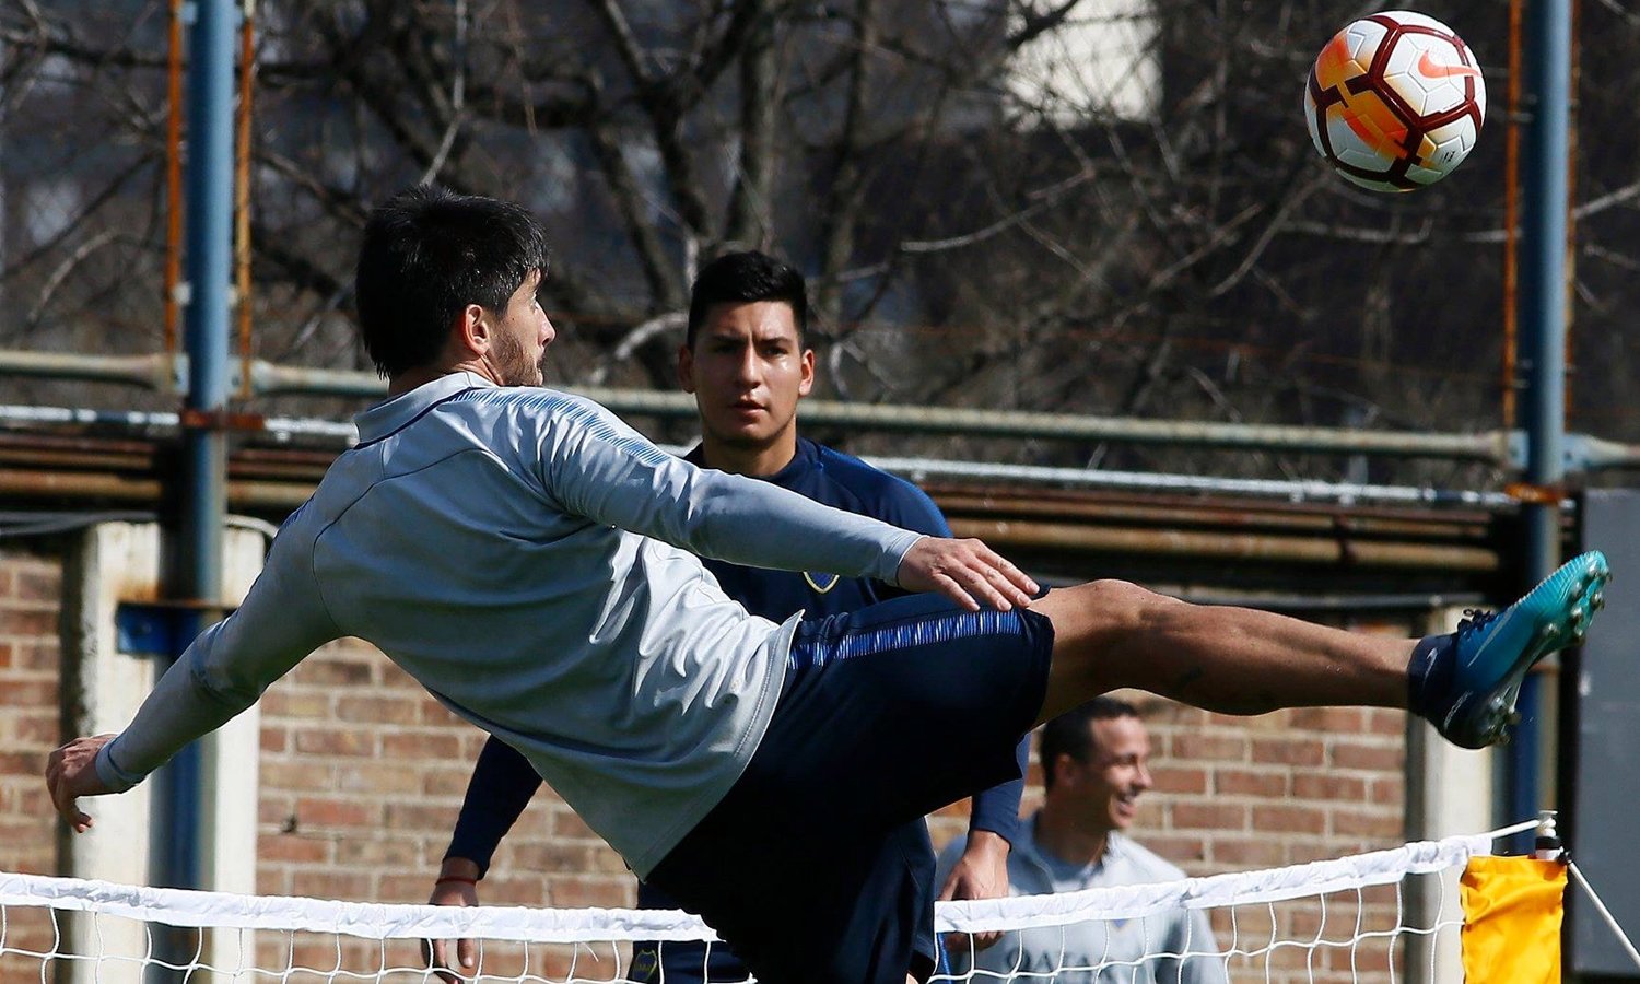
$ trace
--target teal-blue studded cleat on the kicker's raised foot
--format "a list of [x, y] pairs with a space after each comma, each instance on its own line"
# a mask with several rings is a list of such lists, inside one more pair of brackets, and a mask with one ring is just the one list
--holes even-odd
[[1430, 715], [1440, 733], [1463, 748], [1486, 748], [1519, 723], [1515, 697], [1538, 659], [1583, 641], [1612, 579], [1606, 554], [1589, 551], [1565, 564], [1502, 612], [1466, 612], [1445, 640], [1451, 682], [1445, 708]]

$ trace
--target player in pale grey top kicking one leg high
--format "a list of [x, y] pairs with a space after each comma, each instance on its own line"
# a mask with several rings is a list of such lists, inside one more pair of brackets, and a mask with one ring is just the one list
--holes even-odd
[[[544, 274], [520, 207], [420, 187], [372, 213], [359, 326], [389, 399], [358, 417], [359, 444], [285, 522], [244, 604], [126, 730], [51, 754], [74, 830], [92, 823], [79, 797], [130, 789], [315, 648], [358, 636], [522, 751], [764, 984], [900, 984], [909, 933], [859, 891], [881, 838], [1012, 779], [1033, 723], [1138, 687], [1225, 713], [1405, 707], [1484, 746], [1530, 666], [1583, 638], [1610, 576], [1583, 554], [1424, 640], [1115, 581], [1032, 600], [976, 540], [697, 469], [541, 389]], [[695, 554], [932, 594], [774, 623]]]

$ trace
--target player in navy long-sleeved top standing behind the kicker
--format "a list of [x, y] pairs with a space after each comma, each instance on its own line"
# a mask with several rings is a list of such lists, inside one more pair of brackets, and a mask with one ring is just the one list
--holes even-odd
[[[689, 292], [689, 326], [677, 351], [677, 376], [695, 395], [702, 435], [700, 444], [684, 459], [700, 467], [758, 476], [815, 502], [895, 526], [950, 536], [945, 517], [922, 489], [799, 433], [797, 405], [815, 377], [807, 326], [809, 290], [802, 274], [790, 266], [763, 253], [730, 253], [702, 267]], [[823, 618], [904, 594], [869, 577], [768, 571], [722, 561], [707, 561], [705, 567], [723, 594], [753, 615], [776, 622], [795, 612]], [[815, 740], [831, 736], [822, 731]], [[1022, 769], [1027, 753], [1028, 745], [1022, 741], [1015, 749]], [[430, 902], [479, 904], [479, 879], [540, 786], [541, 777], [530, 759], [494, 736], [484, 743]], [[948, 864], [943, 887], [935, 881], [933, 846], [922, 817], [881, 838], [884, 858], [872, 866], [881, 881], [859, 886], [858, 897], [869, 905], [881, 905], [879, 895], [894, 900], [891, 922], [912, 935], [910, 966], [936, 961], [936, 892], [945, 899], [1009, 894], [1009, 845], [1018, 828], [1023, 786], [1023, 779], [1015, 777], [974, 795], [964, 851]], [[800, 892], [804, 886], [794, 884], [792, 891]], [[638, 909], [677, 907], [651, 882], [638, 882]], [[474, 941], [461, 940], [451, 950], [448, 941], [435, 940], [430, 946], [433, 966], [471, 973]], [[745, 981], [748, 969], [723, 945], [635, 943], [628, 976], [700, 984]]]

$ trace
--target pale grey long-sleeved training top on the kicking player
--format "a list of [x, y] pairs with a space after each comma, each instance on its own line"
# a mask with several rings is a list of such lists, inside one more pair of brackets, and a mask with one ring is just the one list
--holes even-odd
[[894, 582], [920, 538], [697, 469], [589, 400], [467, 372], [358, 426], [244, 604], [98, 754], [110, 787], [358, 636], [522, 751], [645, 876], [751, 759], [795, 625], [748, 615], [694, 554]]

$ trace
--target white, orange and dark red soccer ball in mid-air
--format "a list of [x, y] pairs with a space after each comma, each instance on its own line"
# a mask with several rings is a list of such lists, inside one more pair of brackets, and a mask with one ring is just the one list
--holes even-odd
[[1304, 121], [1345, 179], [1410, 192], [1446, 177], [1474, 148], [1486, 82], [1458, 34], [1435, 18], [1387, 10], [1327, 43], [1304, 89]]

